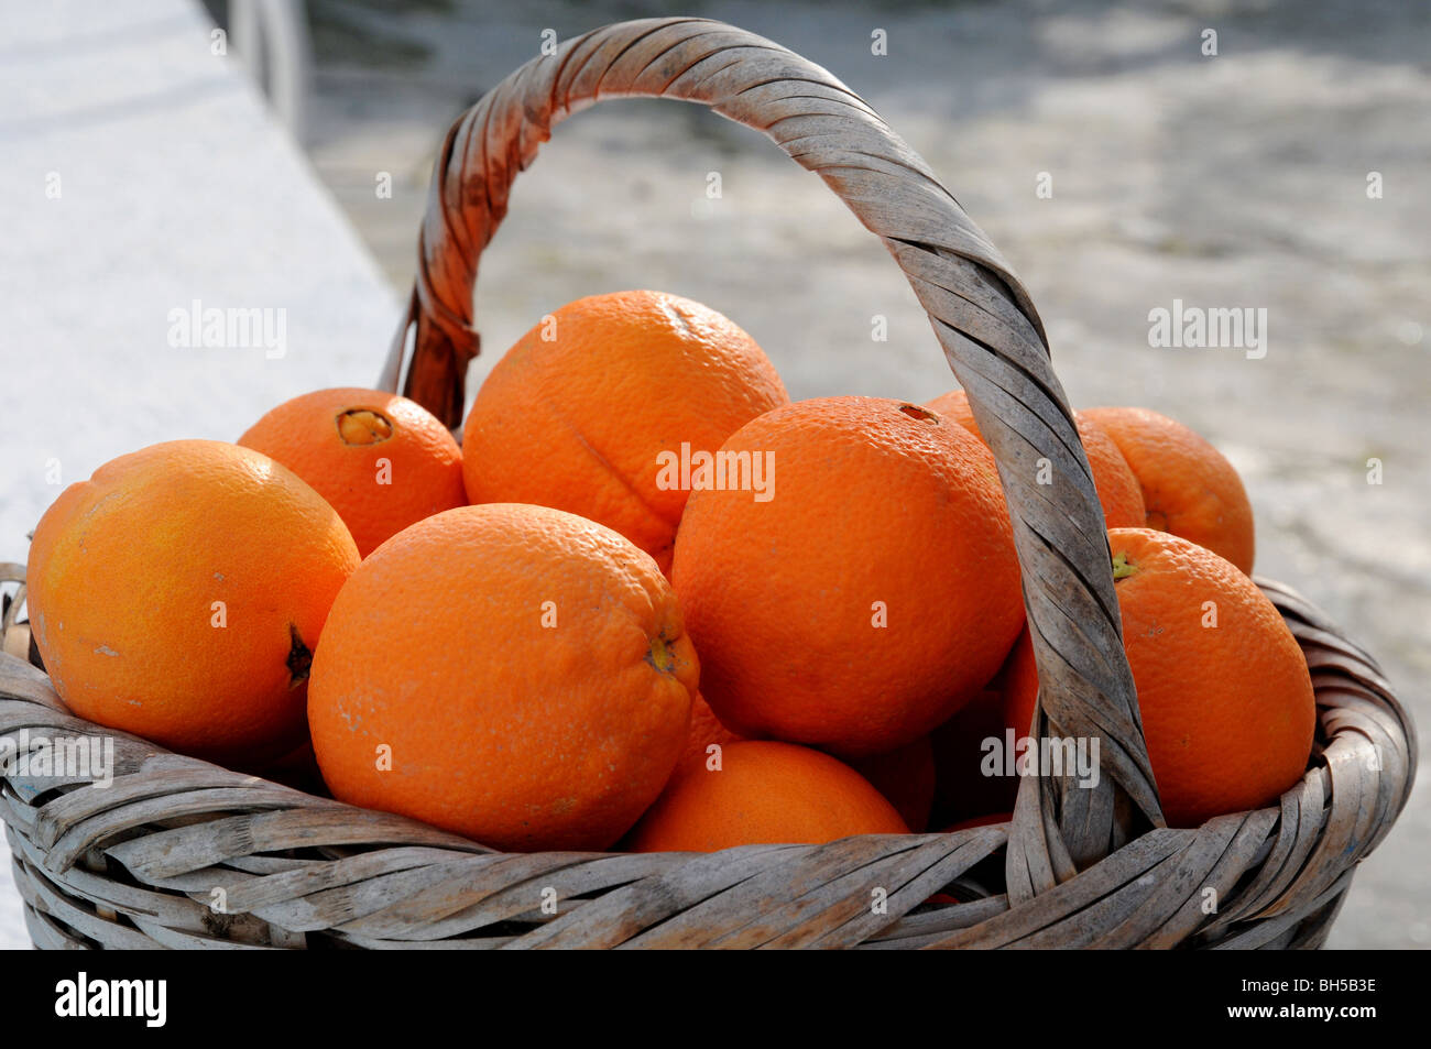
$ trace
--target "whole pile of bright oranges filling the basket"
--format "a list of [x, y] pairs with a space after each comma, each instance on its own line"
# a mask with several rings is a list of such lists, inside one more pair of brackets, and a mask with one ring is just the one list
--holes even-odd
[[[1078, 426], [1169, 823], [1275, 801], [1315, 704], [1236, 472], [1151, 411]], [[29, 607], [79, 716], [504, 850], [989, 821], [1017, 789], [990, 740], [1036, 724], [963, 394], [791, 402], [746, 332], [655, 292], [545, 318], [461, 447], [325, 389], [109, 462], [40, 521]]]

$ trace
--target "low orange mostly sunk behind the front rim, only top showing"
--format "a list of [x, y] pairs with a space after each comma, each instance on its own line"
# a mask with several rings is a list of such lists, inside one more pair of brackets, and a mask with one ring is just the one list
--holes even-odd
[[710, 853], [906, 833], [894, 806], [847, 764], [791, 743], [746, 740], [724, 748], [718, 771], [681, 766], [628, 844], [638, 853]]

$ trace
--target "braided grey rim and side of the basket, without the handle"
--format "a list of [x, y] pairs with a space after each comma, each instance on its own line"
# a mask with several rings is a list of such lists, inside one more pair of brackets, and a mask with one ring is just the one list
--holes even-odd
[[[0, 581], [23, 578], [6, 570]], [[79, 718], [9, 654], [0, 738], [109, 737], [116, 760], [107, 790], [7, 767], [0, 819], [40, 947], [1319, 947], [1407, 803], [1414, 727], [1364, 650], [1295, 591], [1258, 585], [1317, 690], [1301, 783], [1275, 807], [1152, 829], [1023, 900], [969, 880], [1009, 823], [708, 854], [501, 854]], [[957, 903], [926, 903], [950, 886]]]

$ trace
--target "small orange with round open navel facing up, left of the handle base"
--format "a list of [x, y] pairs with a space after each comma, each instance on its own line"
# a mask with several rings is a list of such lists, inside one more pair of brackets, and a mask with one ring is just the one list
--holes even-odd
[[415, 521], [467, 505], [462, 449], [426, 408], [376, 389], [285, 401], [239, 438], [328, 499], [368, 557]]

